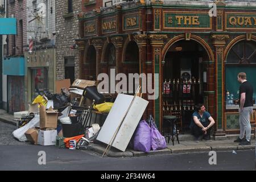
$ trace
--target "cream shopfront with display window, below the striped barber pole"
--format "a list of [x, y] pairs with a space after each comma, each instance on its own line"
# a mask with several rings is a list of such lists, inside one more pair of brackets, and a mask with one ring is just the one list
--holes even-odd
[[43, 49], [25, 56], [25, 96], [27, 104], [39, 94], [55, 93], [56, 78], [55, 49]]

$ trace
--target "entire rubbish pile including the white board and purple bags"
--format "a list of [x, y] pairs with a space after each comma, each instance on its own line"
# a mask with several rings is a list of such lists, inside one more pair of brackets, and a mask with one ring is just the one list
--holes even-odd
[[152, 116], [142, 119], [148, 101], [141, 94], [118, 94], [113, 103], [98, 93], [95, 81], [77, 79], [70, 85], [70, 81], [67, 84], [64, 80], [56, 85], [57, 93], [44, 92], [29, 105], [28, 111], [14, 113], [16, 139], [69, 149], [105, 143], [105, 156], [111, 147], [125, 151], [130, 144], [143, 152], [167, 147]]

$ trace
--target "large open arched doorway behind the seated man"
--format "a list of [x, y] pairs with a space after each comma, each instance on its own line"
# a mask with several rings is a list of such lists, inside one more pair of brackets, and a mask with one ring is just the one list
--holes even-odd
[[206, 61], [208, 52], [195, 40], [175, 42], [164, 56], [162, 115], [176, 115], [181, 133], [189, 132], [195, 105], [205, 101], [207, 67], [203, 63]]

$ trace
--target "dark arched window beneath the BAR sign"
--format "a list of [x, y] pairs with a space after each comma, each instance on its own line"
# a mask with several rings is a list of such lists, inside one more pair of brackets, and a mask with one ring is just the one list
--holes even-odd
[[[135, 41], [130, 41], [125, 50], [124, 50], [124, 56], [123, 56], [123, 68], [122, 71], [125, 73], [127, 78], [129, 77], [129, 73], [136, 74], [140, 73], [139, 71], [139, 47], [137, 46], [137, 43]], [[128, 81], [128, 80], [127, 80]], [[132, 84], [132, 85], [131, 85]], [[127, 82], [127, 91], [133, 91], [130, 94], [134, 94], [137, 90], [137, 86], [139, 85], [139, 80], [133, 79], [133, 82]], [[133, 89], [131, 89], [133, 88]]]

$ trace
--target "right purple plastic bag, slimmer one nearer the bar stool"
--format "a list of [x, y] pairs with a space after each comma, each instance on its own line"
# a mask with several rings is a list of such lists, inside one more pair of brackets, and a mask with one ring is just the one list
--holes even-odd
[[151, 125], [151, 148], [153, 151], [167, 148], [166, 139], [160, 134], [155, 125]]

